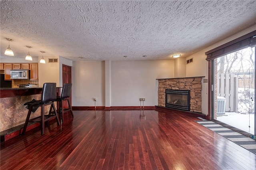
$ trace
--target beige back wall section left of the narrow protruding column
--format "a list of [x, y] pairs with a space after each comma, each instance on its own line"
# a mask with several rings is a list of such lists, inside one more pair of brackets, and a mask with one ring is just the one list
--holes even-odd
[[72, 67], [72, 106], [105, 106], [105, 62], [74, 61]]

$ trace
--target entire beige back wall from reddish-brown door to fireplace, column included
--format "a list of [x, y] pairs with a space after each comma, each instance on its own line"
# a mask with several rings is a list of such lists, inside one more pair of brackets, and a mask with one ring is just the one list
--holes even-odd
[[[94, 106], [94, 98], [97, 106], [140, 106], [139, 98], [146, 99], [145, 106], [154, 106], [156, 79], [174, 77], [174, 60], [110, 61], [108, 67], [107, 73], [105, 61], [73, 62], [72, 106]], [[105, 80], [105, 73], [110, 80]], [[107, 93], [105, 82], [110, 86]]]

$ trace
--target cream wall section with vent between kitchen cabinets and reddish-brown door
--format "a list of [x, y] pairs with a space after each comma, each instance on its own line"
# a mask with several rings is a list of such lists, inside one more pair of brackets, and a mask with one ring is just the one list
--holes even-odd
[[[42, 57], [38, 57], [40, 61]], [[44, 57], [45, 64], [38, 63], [38, 84], [42, 87], [44, 83], [56, 83], [57, 87], [62, 87], [59, 83], [59, 63], [48, 63], [48, 58], [58, 58], [58, 56]]]

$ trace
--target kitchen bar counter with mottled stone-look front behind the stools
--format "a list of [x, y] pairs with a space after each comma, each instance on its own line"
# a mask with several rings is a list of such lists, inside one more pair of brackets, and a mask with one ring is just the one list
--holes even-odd
[[[57, 95], [60, 94], [60, 88], [57, 87]], [[18, 130], [25, 123], [28, 109], [24, 103], [28, 101], [40, 100], [42, 87], [31, 88], [0, 88], [0, 133], [1, 136], [6, 133]], [[49, 107], [49, 108], [48, 108]], [[46, 107], [45, 113], [48, 113], [50, 105]], [[41, 115], [40, 109], [31, 114], [31, 119]], [[1, 138], [1, 142], [2, 142]]]

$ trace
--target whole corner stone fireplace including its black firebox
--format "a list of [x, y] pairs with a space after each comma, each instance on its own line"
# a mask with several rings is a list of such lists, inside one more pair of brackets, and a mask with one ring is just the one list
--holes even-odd
[[[202, 77], [158, 79], [158, 106], [202, 113], [201, 80]], [[189, 94], [180, 96], [180, 94], [176, 93], [173, 97], [168, 97], [166, 95], [166, 91], [170, 90], [178, 93], [187, 91]], [[186, 97], [189, 98], [185, 99]], [[184, 104], [186, 100], [188, 103]], [[172, 106], [170, 107], [168, 103], [170, 103]]]

